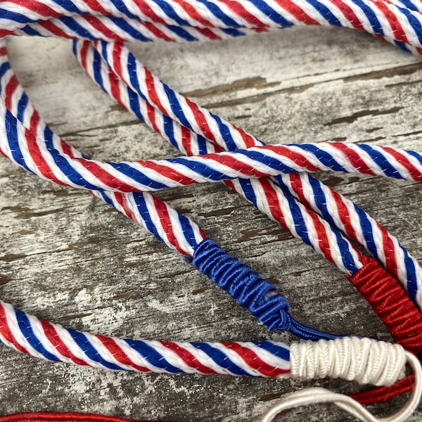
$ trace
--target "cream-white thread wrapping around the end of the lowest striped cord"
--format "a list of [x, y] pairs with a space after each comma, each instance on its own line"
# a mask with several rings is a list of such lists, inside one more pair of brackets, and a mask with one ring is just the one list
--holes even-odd
[[308, 340], [290, 347], [293, 378], [343, 378], [388, 386], [404, 377], [405, 364], [402, 346], [371, 338]]

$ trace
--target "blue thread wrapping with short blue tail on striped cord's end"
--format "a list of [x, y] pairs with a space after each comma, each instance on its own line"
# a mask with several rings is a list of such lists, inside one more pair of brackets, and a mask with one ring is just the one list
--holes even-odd
[[262, 279], [248, 265], [236, 260], [210, 238], [205, 238], [193, 252], [193, 265], [226, 290], [269, 330], [290, 331], [307, 340], [332, 340], [337, 335], [303, 326], [288, 313], [286, 298], [274, 284]]

